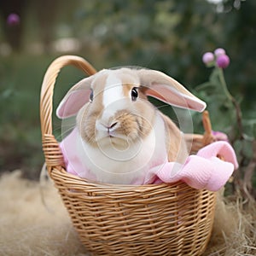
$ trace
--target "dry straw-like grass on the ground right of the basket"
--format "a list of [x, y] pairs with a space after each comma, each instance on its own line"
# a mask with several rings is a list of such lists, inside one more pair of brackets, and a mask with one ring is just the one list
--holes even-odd
[[256, 202], [219, 193], [212, 238], [205, 256], [256, 255]]

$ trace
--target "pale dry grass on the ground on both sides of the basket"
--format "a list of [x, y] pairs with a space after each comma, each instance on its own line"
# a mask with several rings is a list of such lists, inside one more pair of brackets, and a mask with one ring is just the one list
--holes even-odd
[[[0, 180], [0, 255], [87, 255], [66, 209], [51, 183], [20, 178], [20, 172]], [[225, 201], [219, 195], [212, 239], [206, 256], [256, 255], [255, 201]]]

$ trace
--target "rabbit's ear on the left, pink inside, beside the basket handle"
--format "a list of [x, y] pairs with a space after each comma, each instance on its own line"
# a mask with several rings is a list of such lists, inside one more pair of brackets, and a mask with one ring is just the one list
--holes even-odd
[[71, 117], [79, 112], [79, 109], [90, 100], [90, 84], [92, 76], [79, 81], [62, 99], [59, 107], [56, 110], [56, 115], [60, 119]]

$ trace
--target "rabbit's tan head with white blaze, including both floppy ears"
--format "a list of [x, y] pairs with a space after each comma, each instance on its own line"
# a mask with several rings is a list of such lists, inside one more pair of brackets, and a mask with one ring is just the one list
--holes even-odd
[[104, 69], [74, 85], [57, 108], [57, 116], [77, 114], [79, 133], [93, 147], [111, 143], [122, 148], [153, 129], [156, 108], [147, 96], [180, 108], [200, 112], [206, 108], [205, 102], [164, 73], [123, 67]]

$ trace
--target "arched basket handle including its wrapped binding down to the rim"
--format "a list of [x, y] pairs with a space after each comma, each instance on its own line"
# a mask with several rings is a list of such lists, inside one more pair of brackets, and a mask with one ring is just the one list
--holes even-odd
[[56, 78], [61, 68], [68, 65], [78, 67], [89, 75], [96, 73], [96, 69], [83, 58], [75, 55], [63, 55], [49, 65], [44, 75], [40, 96], [40, 119], [44, 157], [49, 174], [51, 174], [53, 167], [61, 168], [61, 166], [65, 166], [59, 144], [52, 134], [52, 110]]

